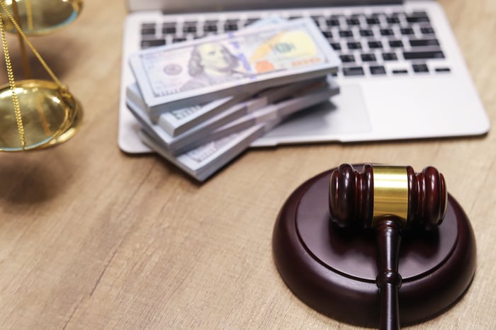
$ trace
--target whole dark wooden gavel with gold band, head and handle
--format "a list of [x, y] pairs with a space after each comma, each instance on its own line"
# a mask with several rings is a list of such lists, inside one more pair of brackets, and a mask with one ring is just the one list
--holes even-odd
[[329, 212], [339, 227], [374, 228], [378, 243], [380, 329], [400, 329], [398, 273], [402, 230], [432, 230], [446, 215], [444, 176], [434, 167], [415, 173], [411, 166], [366, 164], [361, 173], [349, 164], [332, 171]]

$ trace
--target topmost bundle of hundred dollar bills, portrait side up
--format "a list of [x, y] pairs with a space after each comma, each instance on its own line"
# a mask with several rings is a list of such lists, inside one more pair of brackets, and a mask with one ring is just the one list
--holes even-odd
[[154, 47], [130, 57], [151, 116], [325, 76], [339, 64], [310, 18]]

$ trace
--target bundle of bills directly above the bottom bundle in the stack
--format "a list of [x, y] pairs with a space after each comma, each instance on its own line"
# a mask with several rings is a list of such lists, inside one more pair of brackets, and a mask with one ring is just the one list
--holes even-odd
[[338, 86], [332, 79], [329, 79], [329, 81], [316, 81], [308, 86], [302, 86], [297, 93], [293, 93], [286, 100], [274, 104], [264, 104], [264, 106], [258, 106], [257, 109], [246, 111], [243, 104], [249, 106], [249, 103], [252, 103], [252, 106], [256, 106], [264, 102], [264, 98], [255, 98], [252, 101], [240, 103], [238, 106], [232, 108], [237, 113], [243, 113], [242, 116], [237, 116], [237, 119], [225, 123], [221, 127], [216, 127], [213, 130], [191, 130], [178, 137], [171, 137], [167, 132], [162, 130], [162, 127], [152, 124], [147, 118], [147, 115], [130, 101], [128, 101], [128, 107], [145, 130], [147, 130], [148, 134], [157, 140], [164, 149], [167, 149], [171, 154], [181, 154], [188, 149], [201, 146], [201, 144], [205, 144], [206, 142], [218, 140], [220, 137], [230, 135], [233, 132], [239, 132], [252, 125], [282, 118], [303, 108], [322, 103], [329, 100], [331, 96], [336, 95], [338, 92]]

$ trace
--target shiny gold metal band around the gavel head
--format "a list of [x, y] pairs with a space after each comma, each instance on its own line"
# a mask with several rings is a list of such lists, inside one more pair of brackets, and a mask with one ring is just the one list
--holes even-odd
[[388, 216], [403, 226], [408, 217], [408, 175], [405, 166], [373, 165], [373, 224]]

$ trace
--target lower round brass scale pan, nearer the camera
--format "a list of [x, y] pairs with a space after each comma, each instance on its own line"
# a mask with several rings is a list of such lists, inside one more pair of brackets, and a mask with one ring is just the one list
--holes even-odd
[[0, 151], [36, 149], [45, 147], [57, 138], [62, 139], [64, 132], [74, 125], [77, 112], [81, 111], [79, 103], [67, 92], [62, 93], [60, 87], [52, 81], [16, 81], [16, 95], [26, 145], [23, 147], [21, 142], [11, 88], [6, 84], [0, 86]]

